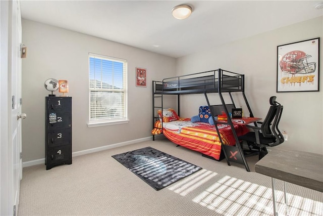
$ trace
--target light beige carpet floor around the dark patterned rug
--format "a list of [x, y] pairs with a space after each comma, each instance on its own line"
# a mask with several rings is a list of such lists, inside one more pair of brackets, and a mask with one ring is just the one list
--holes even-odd
[[[203, 169], [155, 191], [111, 157], [147, 146]], [[73, 157], [73, 164], [49, 170], [25, 167], [18, 215], [273, 215], [271, 179], [254, 172], [257, 156], [247, 161], [251, 172], [161, 139]], [[289, 215], [323, 215], [323, 193], [286, 185]]]

